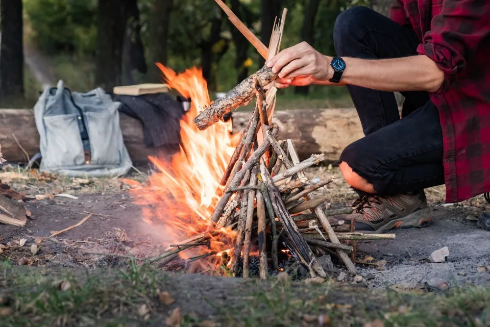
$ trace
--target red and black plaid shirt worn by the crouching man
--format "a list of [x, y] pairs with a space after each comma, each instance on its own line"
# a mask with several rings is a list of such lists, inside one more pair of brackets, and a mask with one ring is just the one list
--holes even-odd
[[490, 191], [490, 1], [396, 0], [390, 18], [414, 29], [417, 48], [444, 72], [439, 109], [446, 202]]

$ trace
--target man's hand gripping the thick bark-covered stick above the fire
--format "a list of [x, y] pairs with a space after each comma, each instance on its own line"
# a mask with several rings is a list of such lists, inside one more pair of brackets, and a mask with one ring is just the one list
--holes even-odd
[[279, 72], [279, 78], [275, 81], [277, 88], [328, 84], [334, 73], [331, 60], [308, 43], [301, 42], [279, 52], [267, 62], [267, 66], [272, 67], [274, 73]]

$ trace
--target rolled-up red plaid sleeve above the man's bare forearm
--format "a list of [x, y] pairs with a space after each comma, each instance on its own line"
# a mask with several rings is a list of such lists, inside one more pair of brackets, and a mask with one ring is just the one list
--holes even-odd
[[434, 60], [444, 72], [437, 93], [446, 92], [466, 61], [490, 36], [490, 5], [487, 0], [444, 0], [441, 13], [434, 16], [417, 52]]

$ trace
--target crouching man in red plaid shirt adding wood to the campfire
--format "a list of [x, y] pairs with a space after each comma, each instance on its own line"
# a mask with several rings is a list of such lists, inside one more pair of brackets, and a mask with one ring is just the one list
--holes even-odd
[[366, 136], [340, 169], [360, 198], [332, 219], [357, 230], [427, 225], [424, 188], [445, 183], [446, 202], [490, 191], [490, 2], [397, 0], [390, 17], [353, 7], [335, 23], [337, 57], [303, 42], [267, 63], [280, 88], [347, 85]]

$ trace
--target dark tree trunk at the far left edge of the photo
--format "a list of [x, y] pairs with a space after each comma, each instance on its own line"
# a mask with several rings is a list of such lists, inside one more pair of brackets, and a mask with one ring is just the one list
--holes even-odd
[[22, 0], [0, 1], [0, 100], [24, 98]]

